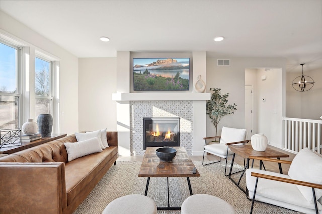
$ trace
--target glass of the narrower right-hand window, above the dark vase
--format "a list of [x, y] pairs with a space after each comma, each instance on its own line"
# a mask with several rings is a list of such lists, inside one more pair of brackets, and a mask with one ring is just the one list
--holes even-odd
[[39, 114], [52, 114], [51, 67], [50, 61], [35, 58], [36, 118]]

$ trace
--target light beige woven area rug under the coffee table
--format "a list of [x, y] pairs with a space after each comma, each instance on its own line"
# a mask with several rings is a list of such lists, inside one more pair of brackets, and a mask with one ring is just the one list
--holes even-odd
[[[250, 213], [252, 201], [228, 177], [224, 175], [225, 162], [203, 166], [201, 161], [193, 161], [200, 177], [190, 177], [193, 194], [210, 194], [231, 204], [237, 213]], [[228, 164], [229, 165], [229, 164]], [[91, 191], [75, 214], [102, 213], [113, 200], [129, 194], [144, 195], [147, 178], [138, 177], [140, 161], [117, 161]], [[241, 169], [234, 166], [234, 169]], [[237, 179], [238, 174], [234, 175]], [[245, 186], [245, 178], [240, 182]], [[167, 206], [167, 178], [151, 178], [147, 196], [157, 206]], [[190, 196], [185, 177], [169, 178], [170, 206], [181, 206]], [[142, 207], [144, 209], [144, 207]], [[158, 214], [179, 214], [178, 210], [158, 210]], [[253, 213], [299, 213], [266, 203], [255, 202]], [[139, 214], [139, 213], [138, 213]]]

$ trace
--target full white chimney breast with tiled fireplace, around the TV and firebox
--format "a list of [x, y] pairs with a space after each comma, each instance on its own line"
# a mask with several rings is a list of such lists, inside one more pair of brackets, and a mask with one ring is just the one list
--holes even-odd
[[[206, 52], [168, 53], [164, 57], [192, 59], [191, 89], [189, 91], [133, 92], [131, 68], [133, 57], [163, 57], [163, 53], [117, 52], [116, 101], [119, 155], [144, 155], [143, 117], [179, 117], [180, 146], [189, 155], [202, 155], [206, 136], [206, 100], [210, 93], [197, 93], [194, 84], [201, 75], [206, 79]], [[130, 63], [129, 63], [130, 62]]]

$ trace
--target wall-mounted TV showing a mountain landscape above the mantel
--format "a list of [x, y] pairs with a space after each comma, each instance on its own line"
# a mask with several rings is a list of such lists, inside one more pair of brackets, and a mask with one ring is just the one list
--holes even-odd
[[189, 90], [190, 58], [133, 58], [134, 91]]

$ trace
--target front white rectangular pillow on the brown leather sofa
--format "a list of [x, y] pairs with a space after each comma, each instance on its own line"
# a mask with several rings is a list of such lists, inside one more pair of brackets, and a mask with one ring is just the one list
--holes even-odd
[[94, 137], [88, 140], [79, 141], [75, 143], [65, 143], [68, 161], [83, 157], [88, 154], [103, 151], [100, 145], [100, 138]]

